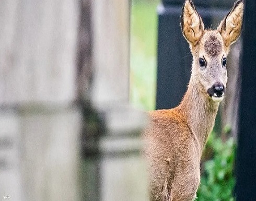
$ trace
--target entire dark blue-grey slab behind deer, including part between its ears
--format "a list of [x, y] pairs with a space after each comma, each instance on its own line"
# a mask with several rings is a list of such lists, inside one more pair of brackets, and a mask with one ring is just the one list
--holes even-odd
[[[180, 15], [184, 0], [162, 0], [158, 6], [158, 64], [156, 109], [173, 108], [181, 101], [190, 78], [192, 56], [182, 36]], [[217, 27], [233, 0], [195, 0], [205, 27]], [[214, 20], [213, 20], [214, 19]]]

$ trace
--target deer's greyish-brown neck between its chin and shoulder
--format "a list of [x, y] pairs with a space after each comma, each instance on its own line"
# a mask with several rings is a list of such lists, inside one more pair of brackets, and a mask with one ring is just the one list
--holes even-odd
[[199, 140], [202, 149], [212, 132], [219, 102], [206, 97], [199, 89], [200, 84], [191, 78], [187, 92], [178, 109], [184, 114], [191, 132]]

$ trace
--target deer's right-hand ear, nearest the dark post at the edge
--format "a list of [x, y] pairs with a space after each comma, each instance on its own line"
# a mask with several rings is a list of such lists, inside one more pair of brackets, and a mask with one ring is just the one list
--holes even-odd
[[236, 42], [241, 34], [243, 18], [243, 1], [237, 1], [228, 15], [220, 22], [218, 32], [222, 35], [224, 44], [229, 45]]

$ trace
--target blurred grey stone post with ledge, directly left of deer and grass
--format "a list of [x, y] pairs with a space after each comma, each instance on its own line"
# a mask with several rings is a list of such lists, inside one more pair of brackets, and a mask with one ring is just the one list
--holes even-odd
[[90, 68], [93, 79], [82, 92], [82, 200], [146, 201], [147, 170], [140, 155], [146, 115], [129, 105], [130, 1], [90, 4], [91, 66], [83, 71]]

